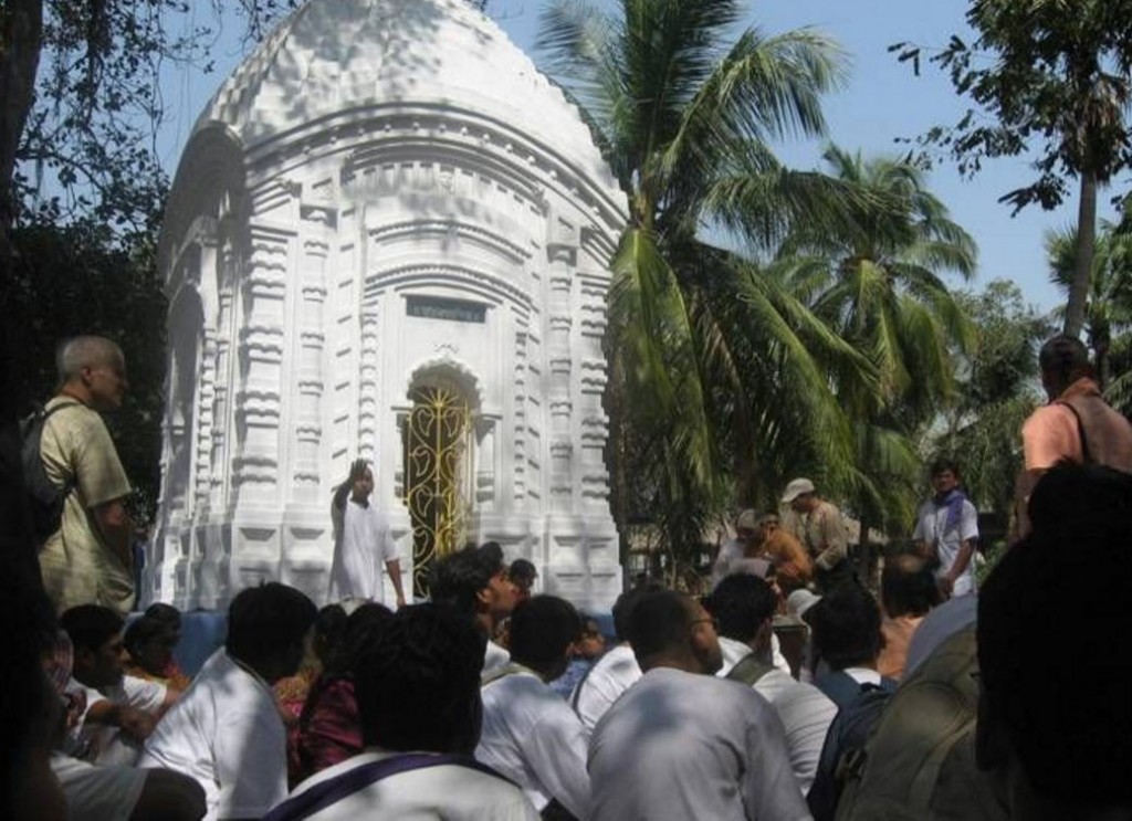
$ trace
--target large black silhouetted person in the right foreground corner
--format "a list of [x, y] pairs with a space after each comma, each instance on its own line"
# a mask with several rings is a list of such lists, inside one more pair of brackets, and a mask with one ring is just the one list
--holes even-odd
[[[1132, 818], [1132, 476], [1064, 465], [979, 593], [978, 761], [1011, 818]], [[1089, 591], [1088, 624], [1067, 591]], [[1062, 603], [1062, 604], [1058, 604]]]

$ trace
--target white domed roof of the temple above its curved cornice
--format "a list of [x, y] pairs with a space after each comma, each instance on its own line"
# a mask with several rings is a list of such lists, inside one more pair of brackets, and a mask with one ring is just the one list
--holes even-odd
[[222, 123], [255, 150], [324, 118], [406, 105], [475, 112], [616, 185], [577, 110], [464, 0], [310, 0], [221, 86], [194, 135]]

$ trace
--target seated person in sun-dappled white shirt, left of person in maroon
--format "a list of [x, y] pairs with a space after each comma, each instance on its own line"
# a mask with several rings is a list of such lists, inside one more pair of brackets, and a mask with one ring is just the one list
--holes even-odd
[[224, 647], [146, 742], [142, 767], [168, 767], [200, 784], [208, 819], [260, 818], [286, 796], [286, 731], [272, 685], [293, 675], [317, 610], [268, 582], [228, 610]]

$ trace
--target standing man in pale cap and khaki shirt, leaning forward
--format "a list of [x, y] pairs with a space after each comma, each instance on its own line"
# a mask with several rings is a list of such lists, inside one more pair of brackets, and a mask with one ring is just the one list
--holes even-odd
[[806, 547], [814, 560], [814, 584], [821, 591], [852, 578], [849, 569], [849, 538], [841, 511], [818, 498], [814, 483], [796, 478], [786, 486], [782, 504], [790, 505], [782, 527]]

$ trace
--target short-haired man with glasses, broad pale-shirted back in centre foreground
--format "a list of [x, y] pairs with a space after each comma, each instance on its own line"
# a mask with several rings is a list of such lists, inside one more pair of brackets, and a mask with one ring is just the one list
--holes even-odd
[[644, 676], [593, 732], [591, 818], [809, 819], [774, 708], [712, 675], [722, 655], [703, 606], [649, 593], [628, 631]]

